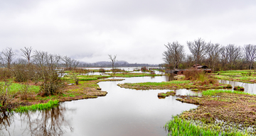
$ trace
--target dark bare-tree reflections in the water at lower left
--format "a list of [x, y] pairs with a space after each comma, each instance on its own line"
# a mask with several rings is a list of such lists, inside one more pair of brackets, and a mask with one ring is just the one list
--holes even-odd
[[[9, 135], [11, 135], [9, 130], [17, 131], [14, 135], [63, 135], [65, 132], [73, 131], [68, 118], [70, 116], [67, 115], [68, 111], [74, 109], [65, 108], [64, 104], [60, 104], [50, 110], [20, 113], [21, 128], [18, 130], [22, 130], [21, 132], [15, 130], [15, 123], [18, 120], [14, 121], [14, 115], [18, 116], [18, 114], [1, 115], [0, 129], [5, 129]], [[11, 123], [14, 125], [10, 127]]]

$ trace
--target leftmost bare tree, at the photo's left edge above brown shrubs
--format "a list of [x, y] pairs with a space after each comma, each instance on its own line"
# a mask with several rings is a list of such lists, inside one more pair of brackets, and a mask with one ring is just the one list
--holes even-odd
[[5, 50], [1, 52], [1, 64], [8, 69], [11, 69], [11, 64], [14, 61], [14, 51], [11, 47], [7, 47]]

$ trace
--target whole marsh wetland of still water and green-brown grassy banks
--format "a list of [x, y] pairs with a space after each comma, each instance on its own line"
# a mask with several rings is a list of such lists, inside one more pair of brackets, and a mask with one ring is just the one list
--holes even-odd
[[[186, 123], [187, 134], [255, 134], [255, 84], [173, 80], [175, 75], [155, 71], [90, 72], [78, 75], [75, 85], [71, 74], [63, 77], [73, 84], [63, 94], [19, 102], [60, 101], [53, 108], [2, 112], [1, 135], [181, 135], [182, 130], [173, 130]], [[233, 91], [234, 86], [245, 90]]]

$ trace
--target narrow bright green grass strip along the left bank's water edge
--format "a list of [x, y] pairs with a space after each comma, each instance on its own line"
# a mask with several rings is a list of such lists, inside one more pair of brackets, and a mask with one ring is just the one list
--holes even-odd
[[46, 110], [49, 108], [53, 108], [54, 106], [58, 106], [58, 100], [50, 100], [48, 103], [39, 103], [32, 106], [20, 106], [16, 108], [14, 111], [16, 113], [24, 113], [28, 111], [37, 111], [37, 110]]

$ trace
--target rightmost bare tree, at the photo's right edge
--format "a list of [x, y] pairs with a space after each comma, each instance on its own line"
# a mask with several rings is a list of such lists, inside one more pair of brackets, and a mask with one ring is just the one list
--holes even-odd
[[256, 45], [245, 45], [243, 50], [245, 52], [245, 59], [250, 63], [250, 70], [252, 70], [252, 64], [256, 59]]

